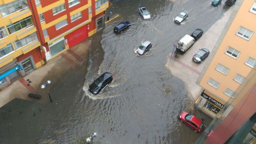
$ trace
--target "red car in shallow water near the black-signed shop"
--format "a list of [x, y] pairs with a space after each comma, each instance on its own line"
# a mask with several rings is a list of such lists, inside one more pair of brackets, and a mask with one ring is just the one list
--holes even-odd
[[201, 132], [204, 128], [204, 123], [199, 118], [185, 111], [180, 114], [180, 121], [191, 127], [195, 132]]

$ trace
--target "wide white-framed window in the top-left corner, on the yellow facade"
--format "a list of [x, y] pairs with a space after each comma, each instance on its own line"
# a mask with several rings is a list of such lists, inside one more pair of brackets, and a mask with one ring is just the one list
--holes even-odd
[[8, 4], [1, 4], [0, 12], [2, 13], [2, 16], [5, 17], [6, 15], [9, 15], [16, 11], [27, 9], [27, 8], [28, 8], [27, 0], [16, 0]]

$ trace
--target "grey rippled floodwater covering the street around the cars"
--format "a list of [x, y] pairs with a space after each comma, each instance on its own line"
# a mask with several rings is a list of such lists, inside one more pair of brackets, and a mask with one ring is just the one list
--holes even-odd
[[[137, 9], [145, 6], [150, 20]], [[177, 25], [181, 11], [188, 18]], [[179, 122], [182, 111], [201, 114], [186, 84], [165, 67], [172, 45], [201, 28], [205, 32], [227, 11], [225, 4], [205, 0], [119, 1], [108, 12], [119, 14], [90, 39], [90, 57], [53, 85], [48, 104], [14, 100], [0, 111], [1, 143], [72, 143], [74, 137], [97, 132], [101, 143], [194, 143], [199, 137]], [[106, 14], [107, 15], [107, 14]], [[113, 28], [129, 21], [122, 34]], [[153, 47], [142, 56], [134, 51], [145, 41]], [[181, 67], [182, 68], [182, 67]], [[109, 71], [113, 82], [100, 94], [87, 89]], [[209, 123], [209, 122], [206, 122]]]

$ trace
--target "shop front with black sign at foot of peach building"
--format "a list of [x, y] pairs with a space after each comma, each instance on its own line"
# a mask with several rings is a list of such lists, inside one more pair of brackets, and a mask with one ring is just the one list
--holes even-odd
[[196, 106], [207, 115], [214, 117], [223, 108], [223, 101], [215, 97], [210, 92], [204, 90], [196, 101]]

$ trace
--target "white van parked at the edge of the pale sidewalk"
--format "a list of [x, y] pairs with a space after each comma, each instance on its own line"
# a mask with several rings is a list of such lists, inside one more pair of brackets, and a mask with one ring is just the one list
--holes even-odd
[[176, 49], [181, 52], [186, 52], [191, 45], [195, 43], [195, 38], [191, 37], [190, 35], [185, 35], [182, 37], [176, 46]]

